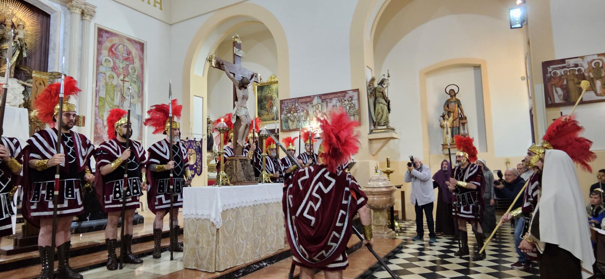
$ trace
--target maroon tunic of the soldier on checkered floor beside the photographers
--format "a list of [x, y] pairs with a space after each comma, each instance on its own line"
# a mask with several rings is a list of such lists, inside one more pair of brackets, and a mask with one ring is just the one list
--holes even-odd
[[465, 168], [460, 168], [458, 165], [454, 168], [454, 178], [457, 181], [474, 184], [477, 189], [456, 187], [452, 215], [459, 219], [481, 222], [484, 208], [483, 191], [485, 191], [482, 167], [477, 164], [468, 164]]

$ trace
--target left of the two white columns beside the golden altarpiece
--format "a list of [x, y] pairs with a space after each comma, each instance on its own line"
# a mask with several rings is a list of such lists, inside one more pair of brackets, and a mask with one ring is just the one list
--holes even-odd
[[80, 75], [78, 74], [78, 69], [80, 66], [80, 21], [82, 19], [84, 4], [83, 2], [73, 0], [67, 3], [67, 8], [70, 10], [70, 49], [67, 61], [67, 72], [64, 70], [62, 71], [79, 81]]

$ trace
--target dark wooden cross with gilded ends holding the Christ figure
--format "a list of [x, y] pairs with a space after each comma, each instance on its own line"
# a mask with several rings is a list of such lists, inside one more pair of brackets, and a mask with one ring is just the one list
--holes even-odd
[[[258, 76], [255, 77], [254, 79], [252, 79], [252, 76], [254, 75], [255, 72], [250, 71], [249, 69], [243, 68], [241, 66], [241, 59], [244, 57], [244, 52], [241, 50], [241, 40], [240, 40], [240, 35], [239, 34], [235, 34], [235, 36], [233, 36], [232, 38], [232, 42], [233, 42], [233, 63], [229, 63], [223, 59], [220, 59], [216, 56], [214, 56], [214, 54], [210, 54], [208, 56], [208, 58], [206, 59], [206, 61], [208, 61], [208, 63], [210, 63], [210, 66], [212, 68], [215, 69], [220, 69], [220, 66], [218, 65], [218, 62], [220, 60], [224, 61], [224, 66], [225, 69], [227, 69], [227, 71], [231, 72], [231, 74], [234, 75], [235, 80], [241, 80], [242, 77], [247, 77], [248, 79], [250, 79], [250, 82], [260, 82], [260, 80], [258, 80]], [[253, 93], [250, 94], [252, 92], [249, 92], [249, 98], [254, 96]], [[250, 96], [252, 95], [252, 96]], [[255, 98], [255, 97], [252, 97]], [[235, 88], [235, 86], [233, 87], [233, 107], [235, 107], [235, 101], [237, 101], [237, 88]], [[250, 109], [248, 110], [248, 113], [250, 114], [250, 117], [253, 119], [255, 117], [255, 115], [253, 115], [253, 111], [250, 111]], [[238, 144], [235, 144], [235, 139], [238, 138], [238, 129], [240, 129], [240, 125], [241, 122], [239, 119], [237, 119], [234, 123], [234, 127], [233, 127], [233, 141], [232, 144], [234, 146], [234, 155], [235, 156], [241, 156], [243, 155], [243, 149], [241, 146], [239, 146]]]

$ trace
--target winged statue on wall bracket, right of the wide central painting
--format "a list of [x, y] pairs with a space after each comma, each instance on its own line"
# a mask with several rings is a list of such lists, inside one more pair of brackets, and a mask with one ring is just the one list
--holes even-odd
[[388, 97], [386, 94], [388, 88], [387, 79], [381, 79], [378, 86], [374, 87], [375, 77], [368, 82], [368, 103], [370, 103], [370, 115], [372, 117], [372, 126], [378, 129], [378, 126], [390, 128], [388, 119]]

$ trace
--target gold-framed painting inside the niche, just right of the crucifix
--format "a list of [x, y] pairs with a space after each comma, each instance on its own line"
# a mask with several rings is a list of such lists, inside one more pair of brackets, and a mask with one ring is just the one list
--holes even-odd
[[280, 120], [280, 97], [277, 86], [277, 77], [271, 75], [269, 80], [261, 83], [254, 83], [252, 89], [257, 98], [257, 117], [265, 123], [273, 123]]

